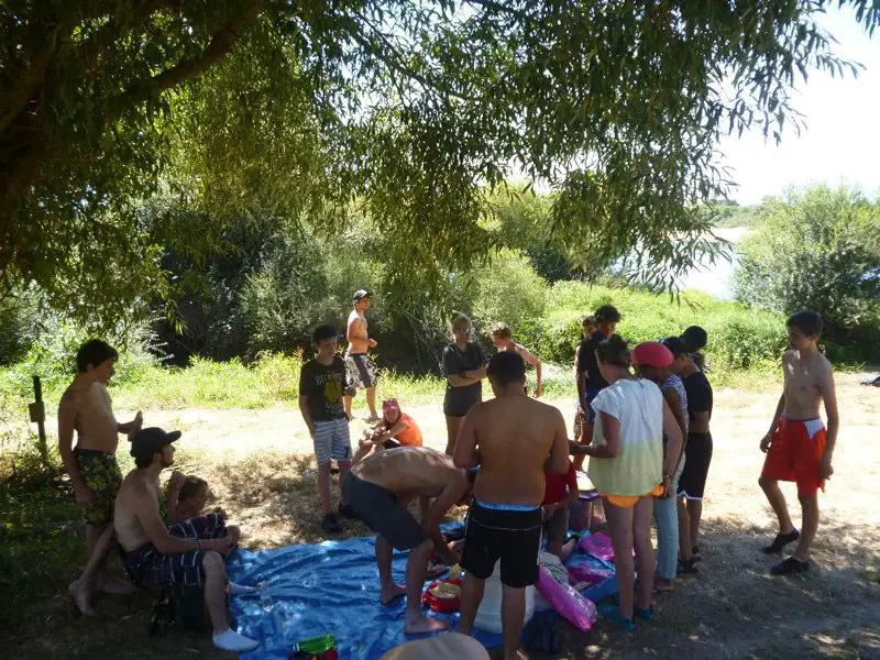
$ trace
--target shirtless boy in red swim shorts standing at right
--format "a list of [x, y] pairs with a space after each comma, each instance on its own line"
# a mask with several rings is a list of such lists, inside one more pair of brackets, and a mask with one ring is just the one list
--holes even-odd
[[[814, 311], [799, 311], [789, 318], [787, 326], [792, 350], [782, 355], [782, 396], [770, 430], [761, 439], [761, 451], [767, 459], [758, 480], [779, 518], [779, 534], [762, 551], [781, 552], [789, 543], [799, 542], [792, 557], [770, 569], [772, 575], [810, 569], [810, 547], [818, 527], [818, 490], [824, 492], [825, 480], [834, 473], [832, 455], [838, 428], [832, 365], [816, 345], [822, 319]], [[820, 403], [825, 404], [827, 430], [818, 416]], [[792, 525], [780, 481], [798, 484], [803, 515], [801, 531]]]

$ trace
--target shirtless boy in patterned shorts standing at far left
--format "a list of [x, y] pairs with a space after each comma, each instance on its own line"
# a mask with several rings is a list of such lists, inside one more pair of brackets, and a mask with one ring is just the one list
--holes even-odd
[[[122, 473], [117, 464], [119, 433], [141, 428], [141, 413], [132, 421], [119, 424], [107, 394], [107, 383], [113, 376], [117, 351], [107, 342], [92, 339], [76, 354], [77, 374], [62, 395], [58, 405], [58, 451], [74, 486], [76, 502], [86, 514], [86, 543], [89, 565], [68, 591], [77, 608], [86, 615], [91, 608], [92, 576], [103, 564], [110, 549], [113, 503]], [[77, 435], [73, 447], [74, 431]], [[100, 542], [102, 536], [106, 539]], [[91, 556], [96, 554], [92, 561]], [[97, 587], [108, 593], [130, 593], [131, 585], [109, 575], [97, 573]]]

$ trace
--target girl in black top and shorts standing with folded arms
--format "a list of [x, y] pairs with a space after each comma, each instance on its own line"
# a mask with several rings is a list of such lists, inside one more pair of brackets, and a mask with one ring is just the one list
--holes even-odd
[[486, 354], [474, 343], [474, 327], [465, 315], [453, 311], [453, 342], [443, 349], [440, 363], [447, 378], [443, 414], [447, 417], [447, 453], [452, 455], [455, 441], [464, 425], [464, 416], [483, 400], [483, 378], [486, 377]]

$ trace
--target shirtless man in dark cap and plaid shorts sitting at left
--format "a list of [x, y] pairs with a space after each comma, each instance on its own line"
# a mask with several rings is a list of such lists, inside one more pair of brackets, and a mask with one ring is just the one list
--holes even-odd
[[[180, 535], [175, 536], [160, 516], [158, 475], [174, 464], [172, 443], [179, 437], [180, 431], [167, 433], [151, 427], [132, 440], [135, 469], [122, 481], [113, 512], [117, 540], [125, 553], [123, 563], [142, 584], [204, 588], [215, 646], [226, 651], [250, 651], [258, 642], [230, 628], [226, 608], [228, 579], [223, 558], [238, 543], [238, 528], [228, 529], [222, 514], [211, 514], [191, 518], [186, 526], [174, 526]], [[234, 595], [242, 587], [229, 583], [229, 588]]]

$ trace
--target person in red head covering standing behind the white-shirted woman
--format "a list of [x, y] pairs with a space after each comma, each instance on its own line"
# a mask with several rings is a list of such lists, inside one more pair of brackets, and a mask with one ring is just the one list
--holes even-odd
[[[632, 351], [632, 361], [636, 363], [638, 374], [660, 386], [669, 409], [679, 424], [682, 438], [688, 438], [688, 393], [681, 378], [672, 373], [674, 362], [672, 352], [662, 343], [646, 341]], [[675, 450], [675, 470], [672, 472], [672, 494], [669, 492], [653, 501], [653, 520], [657, 526], [657, 578], [654, 588], [659, 592], [672, 591], [675, 587], [675, 578], [679, 568], [679, 510], [676, 494], [679, 481], [686, 461], [686, 440], [680, 450]], [[663, 436], [663, 452], [669, 453], [670, 446], [667, 436]]]

